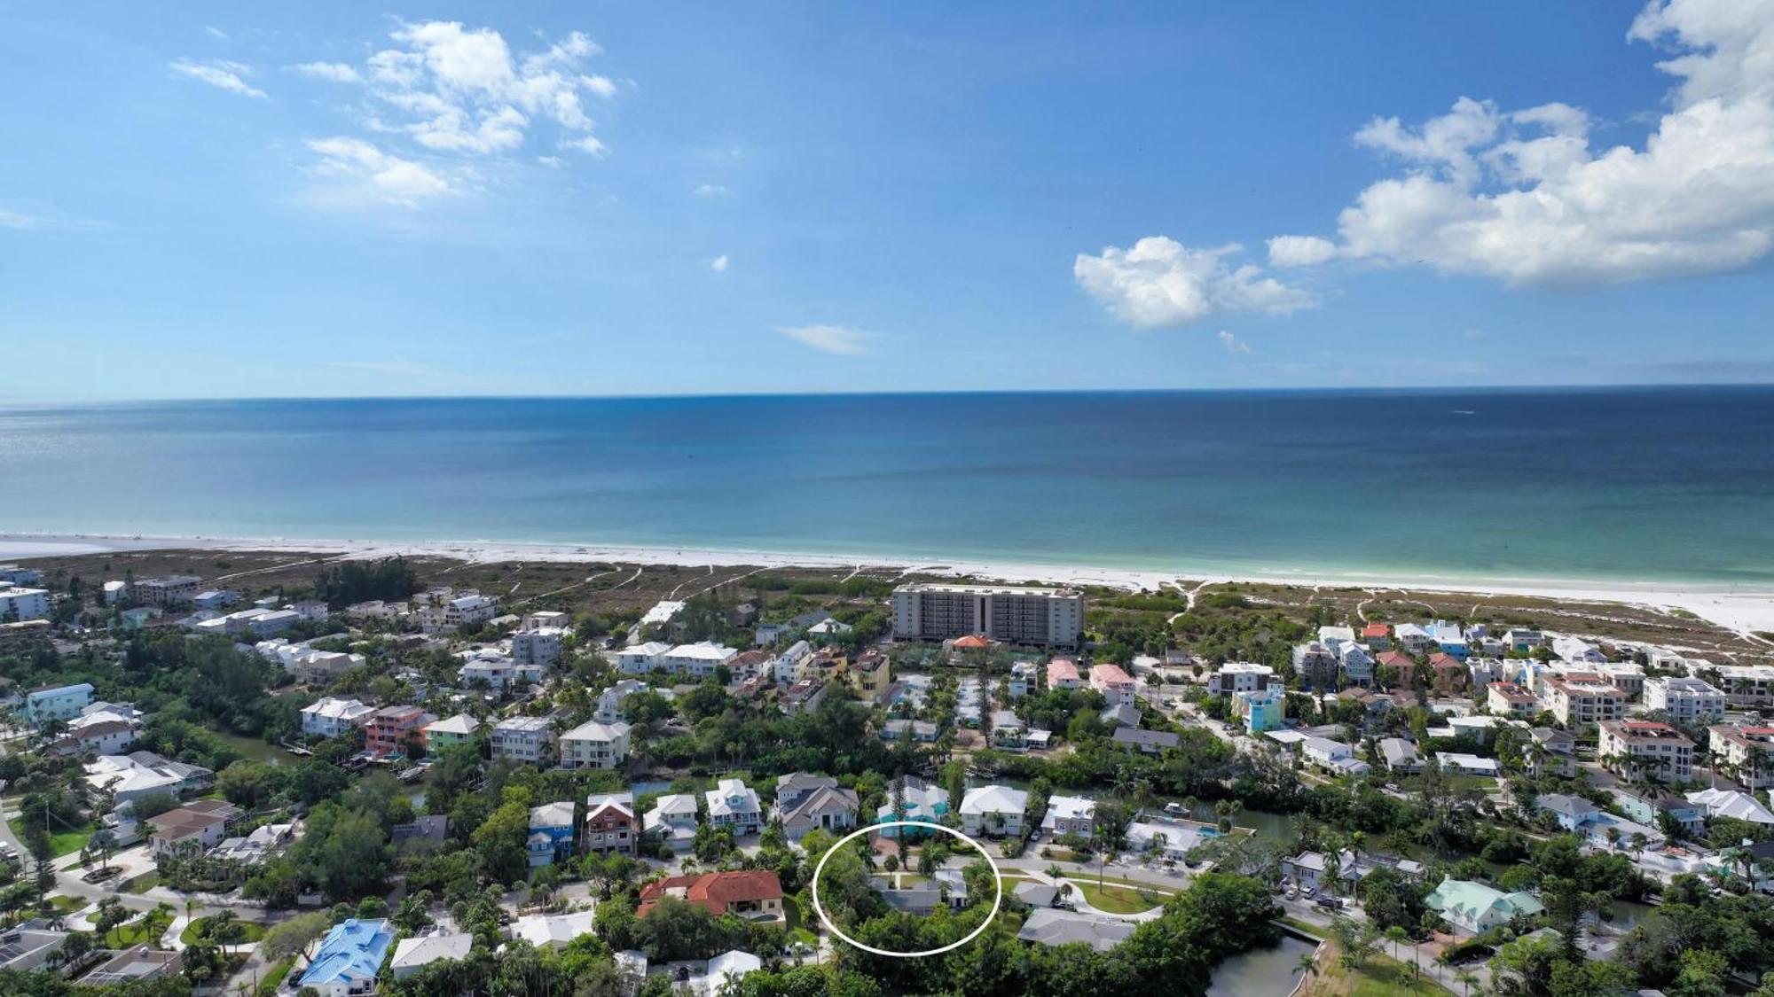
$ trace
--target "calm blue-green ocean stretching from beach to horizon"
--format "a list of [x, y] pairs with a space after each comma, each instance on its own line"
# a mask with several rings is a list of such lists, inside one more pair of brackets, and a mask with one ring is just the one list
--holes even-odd
[[0, 532], [1774, 584], [1774, 387], [0, 406]]

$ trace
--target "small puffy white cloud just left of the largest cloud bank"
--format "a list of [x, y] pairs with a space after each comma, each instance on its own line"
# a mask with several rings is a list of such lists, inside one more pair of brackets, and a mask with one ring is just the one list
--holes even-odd
[[1240, 250], [1236, 243], [1189, 248], [1148, 236], [1132, 248], [1079, 254], [1071, 273], [1116, 318], [1139, 328], [1183, 326], [1226, 312], [1288, 314], [1315, 303], [1306, 291], [1263, 277], [1258, 266], [1228, 266], [1226, 257]]

